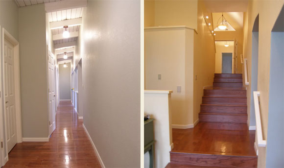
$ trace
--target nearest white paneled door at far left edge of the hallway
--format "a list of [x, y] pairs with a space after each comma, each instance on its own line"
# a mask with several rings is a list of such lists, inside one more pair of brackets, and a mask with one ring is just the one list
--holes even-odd
[[14, 46], [4, 40], [4, 88], [5, 88], [5, 121], [8, 152], [17, 144]]

